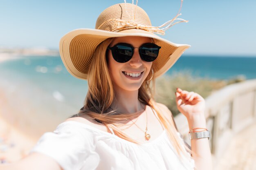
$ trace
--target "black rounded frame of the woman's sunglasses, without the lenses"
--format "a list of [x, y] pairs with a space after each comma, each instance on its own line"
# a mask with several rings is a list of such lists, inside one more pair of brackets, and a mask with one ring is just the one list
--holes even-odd
[[[156, 46], [156, 48], [158, 49], [158, 53], [157, 53], [157, 57], [158, 57], [159, 50], [161, 49], [161, 46], [158, 46], [157, 44], [154, 44], [154, 43], [144, 43], [144, 44], [142, 44], [140, 47], [133, 47], [131, 44], [124, 43], [124, 42], [120, 42], [120, 43], [115, 44], [115, 45], [112, 46], [112, 47], [108, 47], [107, 49], [111, 50], [112, 57], [114, 58], [114, 60], [115, 60], [116, 62], [119, 62], [119, 63], [125, 63], [125, 62], [130, 61], [130, 60], [132, 59], [133, 54], [134, 54], [134, 49], [139, 49], [139, 57], [141, 58], [141, 60], [146, 61], [146, 60], [144, 60], [144, 57], [142, 56], [141, 49], [142, 49], [144, 46], [148, 45], [148, 44], [150, 44], [150, 45], [153, 44], [153, 45]], [[130, 48], [131, 48], [131, 50], [132, 50], [132, 55], [131, 55], [131, 56], [127, 55], [127, 57], [130, 57], [130, 59], [127, 59], [127, 61], [125, 60], [125, 61], [123, 61], [123, 62], [120, 62], [120, 61], [117, 59], [118, 56], [116, 56], [116, 53], [115, 53], [115, 49], [117, 48], [117, 45], [123, 45], [123, 46], [130, 47]], [[156, 59], [157, 57], [155, 57], [155, 59]], [[154, 60], [155, 60], [155, 59], [154, 59]], [[152, 60], [152, 61], [146, 61], [146, 62], [153, 62], [154, 60]]]

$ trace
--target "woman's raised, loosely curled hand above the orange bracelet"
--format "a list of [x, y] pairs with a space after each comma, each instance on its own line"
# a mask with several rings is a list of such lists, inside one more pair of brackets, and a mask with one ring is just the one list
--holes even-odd
[[187, 119], [193, 119], [195, 116], [204, 116], [205, 101], [198, 93], [177, 88], [175, 95], [177, 108]]

